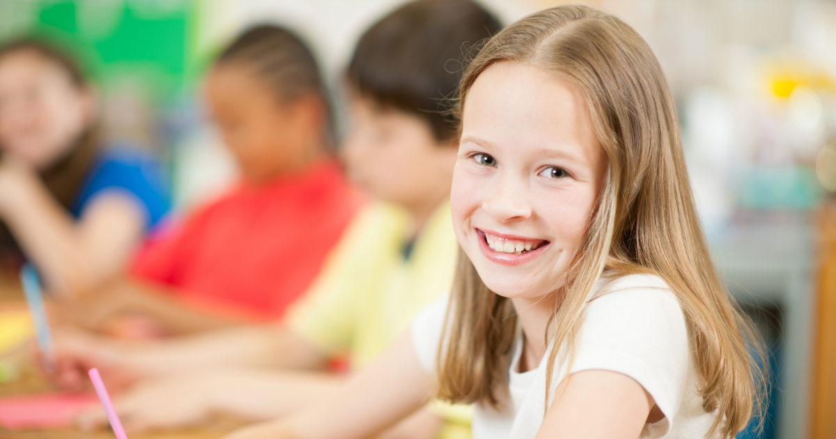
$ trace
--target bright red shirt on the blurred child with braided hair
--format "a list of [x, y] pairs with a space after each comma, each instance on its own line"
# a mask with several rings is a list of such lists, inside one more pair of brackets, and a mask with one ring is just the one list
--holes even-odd
[[137, 255], [132, 273], [187, 302], [276, 319], [319, 273], [360, 197], [323, 160], [263, 186], [237, 186]]

